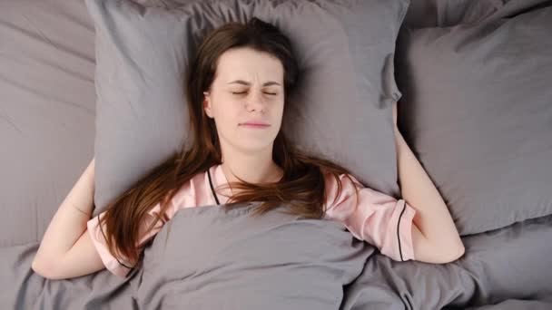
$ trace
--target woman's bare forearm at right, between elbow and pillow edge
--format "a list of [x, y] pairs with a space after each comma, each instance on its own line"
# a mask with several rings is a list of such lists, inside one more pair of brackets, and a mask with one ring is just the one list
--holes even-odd
[[435, 245], [461, 244], [449, 208], [397, 128], [395, 141], [401, 196], [417, 211], [414, 224]]

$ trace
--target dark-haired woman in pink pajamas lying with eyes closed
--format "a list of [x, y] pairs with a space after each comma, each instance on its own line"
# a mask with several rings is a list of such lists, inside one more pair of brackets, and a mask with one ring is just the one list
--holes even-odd
[[47, 228], [35, 272], [62, 279], [106, 267], [126, 276], [179, 209], [215, 203], [236, 208], [248, 201], [262, 201], [256, 216], [286, 206], [304, 218], [341, 221], [354, 237], [398, 261], [446, 263], [462, 256], [447, 206], [397, 129], [395, 106], [404, 199], [363, 188], [350, 171], [286, 140], [281, 119], [298, 65], [290, 41], [275, 26], [257, 18], [223, 25], [202, 42], [188, 74], [191, 149], [90, 218], [93, 160]]

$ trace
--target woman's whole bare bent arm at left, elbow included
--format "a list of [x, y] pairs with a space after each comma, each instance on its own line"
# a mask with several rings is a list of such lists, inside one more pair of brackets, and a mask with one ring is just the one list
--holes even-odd
[[86, 222], [93, 207], [94, 159], [46, 229], [33, 260], [35, 273], [50, 279], [62, 279], [88, 275], [105, 267], [86, 232]]

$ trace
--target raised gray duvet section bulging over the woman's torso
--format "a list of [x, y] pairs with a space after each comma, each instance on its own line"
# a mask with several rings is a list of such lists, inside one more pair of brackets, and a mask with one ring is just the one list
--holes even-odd
[[280, 210], [251, 218], [256, 206], [179, 211], [144, 251], [143, 268], [131, 282], [137, 305], [338, 309], [342, 286], [359, 276], [374, 248], [329, 220]]

